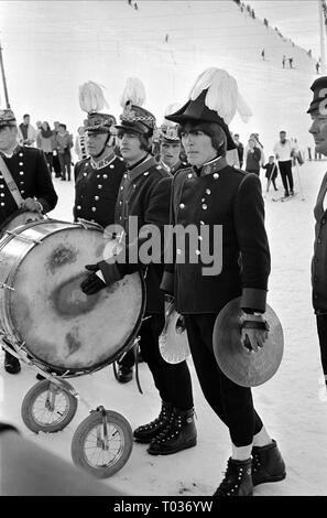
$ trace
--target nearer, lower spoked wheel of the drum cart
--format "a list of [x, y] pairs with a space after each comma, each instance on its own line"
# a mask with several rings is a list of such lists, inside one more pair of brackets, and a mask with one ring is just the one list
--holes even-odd
[[[124, 466], [133, 447], [130, 423], [120, 413], [94, 410], [77, 428], [72, 441], [74, 463], [97, 478], [108, 478]], [[106, 445], [103, 419], [107, 421]]]

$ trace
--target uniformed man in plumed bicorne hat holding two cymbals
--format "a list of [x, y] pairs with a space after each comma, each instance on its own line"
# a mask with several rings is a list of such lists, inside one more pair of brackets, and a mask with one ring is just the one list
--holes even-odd
[[[253, 485], [285, 477], [276, 442], [253, 408], [251, 389], [224, 375], [212, 349], [217, 315], [240, 295], [247, 325], [253, 326], [249, 339], [254, 354], [264, 347], [266, 337], [263, 314], [270, 251], [261, 184], [257, 174], [232, 168], [226, 160], [227, 149], [235, 145], [227, 126], [235, 111], [229, 111], [221, 99], [228, 91], [232, 101], [239, 95], [236, 88], [235, 79], [226, 71], [208, 69], [199, 76], [187, 104], [166, 116], [181, 125], [182, 143], [190, 164], [174, 176], [171, 224], [174, 228], [192, 225], [199, 236], [197, 240], [185, 241], [183, 247], [172, 239], [173, 262], [166, 265], [162, 289], [174, 296], [176, 311], [185, 317], [204, 396], [229, 429], [232, 456], [215, 496], [251, 495]], [[207, 102], [218, 106], [224, 118], [218, 108], [209, 108]], [[240, 99], [239, 106], [243, 104]], [[242, 110], [242, 115], [247, 114]], [[222, 241], [215, 237], [217, 226], [222, 226]], [[206, 235], [209, 237], [205, 238]], [[240, 336], [243, 345], [244, 331]]]

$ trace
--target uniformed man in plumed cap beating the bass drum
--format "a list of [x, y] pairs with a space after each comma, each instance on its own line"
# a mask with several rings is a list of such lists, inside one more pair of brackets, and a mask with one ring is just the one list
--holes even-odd
[[[102, 260], [87, 266], [92, 273], [81, 283], [81, 290], [91, 295], [142, 267], [146, 307], [145, 320], [140, 328], [141, 354], [152, 373], [162, 408], [155, 420], [137, 428], [133, 435], [135, 441], [149, 443], [149, 453], [167, 455], [196, 445], [192, 382], [185, 360], [167, 364], [160, 354], [159, 337], [165, 322], [164, 295], [160, 290], [163, 247], [160, 247], [160, 251], [153, 251], [152, 258], [143, 257], [141, 247], [149, 239], [149, 228], [155, 227], [163, 240], [164, 226], [170, 220], [173, 176], [157, 164], [150, 152], [155, 118], [133, 101], [130, 97], [133, 88], [129, 88], [129, 84], [122, 96], [124, 109], [120, 117], [121, 123], [117, 126], [121, 154], [128, 169], [120, 186], [115, 218], [127, 249], [118, 253], [113, 263]], [[137, 99], [140, 102], [140, 96]], [[135, 239], [132, 225], [138, 228]]]

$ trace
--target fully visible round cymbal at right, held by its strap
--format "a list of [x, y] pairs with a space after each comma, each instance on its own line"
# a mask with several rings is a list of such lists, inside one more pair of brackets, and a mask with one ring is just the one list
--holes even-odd
[[222, 373], [241, 387], [257, 387], [276, 373], [283, 357], [284, 335], [281, 322], [266, 304], [264, 319], [270, 325], [268, 339], [258, 352], [248, 353], [241, 344], [241, 298], [233, 299], [216, 319], [212, 345]]

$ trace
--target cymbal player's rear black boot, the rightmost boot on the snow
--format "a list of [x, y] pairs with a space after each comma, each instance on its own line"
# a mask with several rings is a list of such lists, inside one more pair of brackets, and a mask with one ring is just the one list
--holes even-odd
[[277, 447], [276, 441], [266, 446], [252, 447], [252, 481], [253, 486], [266, 482], [283, 481], [286, 476], [285, 463]]

